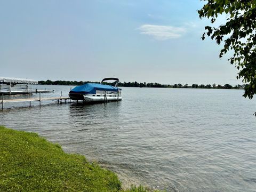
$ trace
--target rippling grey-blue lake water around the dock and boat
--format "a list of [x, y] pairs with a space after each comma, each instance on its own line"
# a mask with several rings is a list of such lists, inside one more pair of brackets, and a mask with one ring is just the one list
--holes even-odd
[[[55, 90], [42, 97], [70, 90], [35, 87]], [[256, 100], [244, 99], [243, 90], [122, 91], [121, 102], [106, 105], [6, 103], [0, 124], [37, 132], [68, 153], [83, 154], [116, 172], [124, 186], [256, 191]]]

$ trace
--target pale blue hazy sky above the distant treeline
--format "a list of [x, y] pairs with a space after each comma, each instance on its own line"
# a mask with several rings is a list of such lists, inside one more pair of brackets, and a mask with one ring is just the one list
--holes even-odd
[[[0, 0], [0, 76], [241, 84], [199, 0]], [[226, 18], [220, 17], [219, 24]], [[218, 23], [217, 23], [218, 24]]]

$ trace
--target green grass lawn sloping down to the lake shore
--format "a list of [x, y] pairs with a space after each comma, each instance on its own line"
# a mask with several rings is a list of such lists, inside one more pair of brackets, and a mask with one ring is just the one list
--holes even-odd
[[124, 190], [117, 175], [67, 154], [36, 133], [0, 126], [0, 191], [148, 191]]

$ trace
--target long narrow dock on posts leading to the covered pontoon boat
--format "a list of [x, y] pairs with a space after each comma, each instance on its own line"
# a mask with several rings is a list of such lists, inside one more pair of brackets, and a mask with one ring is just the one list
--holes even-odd
[[29, 102], [29, 107], [31, 107], [31, 101], [38, 101], [39, 106], [41, 106], [41, 101], [46, 100], [54, 100], [58, 103], [62, 102], [62, 100], [66, 103], [67, 100], [71, 102], [71, 99], [69, 97], [50, 97], [50, 98], [41, 98], [41, 93], [39, 92], [39, 98], [26, 98], [26, 99], [4, 99], [4, 94], [2, 94], [2, 100], [0, 100], [0, 103], [2, 103], [2, 110], [4, 109], [4, 103], [11, 103], [11, 102]]

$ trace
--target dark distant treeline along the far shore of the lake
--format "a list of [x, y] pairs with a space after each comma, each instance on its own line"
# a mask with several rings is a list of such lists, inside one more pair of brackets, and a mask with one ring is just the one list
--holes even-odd
[[[51, 81], [51, 80], [47, 80], [47, 81], [38, 81], [39, 85], [83, 85], [85, 83], [100, 83], [100, 82], [90, 82], [90, 81]], [[107, 83], [104, 82], [103, 84], [106, 85], [115, 85], [115, 83]], [[159, 83], [138, 83], [138, 82], [119, 82], [118, 86], [120, 87], [159, 87], [159, 88], [193, 88], [193, 89], [244, 89], [247, 84], [243, 84], [243, 85], [236, 85], [236, 86], [232, 86], [229, 84], [225, 84], [225, 85], [220, 85], [220, 84], [192, 84], [192, 85], [188, 85], [188, 84], [184, 84], [182, 85], [181, 83], [178, 84], [159, 84]]]

